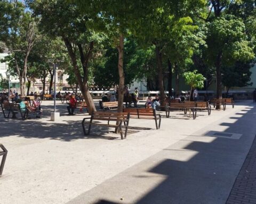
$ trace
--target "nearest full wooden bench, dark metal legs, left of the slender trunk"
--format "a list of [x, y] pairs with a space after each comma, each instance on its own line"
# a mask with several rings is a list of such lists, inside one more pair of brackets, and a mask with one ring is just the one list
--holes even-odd
[[[85, 120], [90, 119], [89, 128], [86, 132], [85, 130]], [[130, 113], [114, 113], [114, 112], [93, 112], [91, 117], [85, 117], [82, 121], [83, 132], [84, 135], [90, 134], [91, 126], [98, 125], [98, 126], [108, 126], [110, 128], [119, 129], [121, 138], [126, 138], [127, 129], [129, 125]], [[101, 123], [99, 121], [108, 121], [107, 124]], [[115, 124], [110, 124], [109, 122], [113, 121]], [[124, 125], [122, 123], [124, 122]], [[125, 127], [124, 137], [122, 128]]]

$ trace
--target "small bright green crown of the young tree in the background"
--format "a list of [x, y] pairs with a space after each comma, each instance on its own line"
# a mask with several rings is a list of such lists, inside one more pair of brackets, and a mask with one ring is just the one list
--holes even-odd
[[202, 74], [197, 73], [197, 70], [194, 70], [193, 72], [185, 72], [183, 73], [183, 77], [185, 79], [185, 83], [188, 84], [191, 89], [202, 89], [204, 87], [204, 81], [206, 78], [204, 78]]

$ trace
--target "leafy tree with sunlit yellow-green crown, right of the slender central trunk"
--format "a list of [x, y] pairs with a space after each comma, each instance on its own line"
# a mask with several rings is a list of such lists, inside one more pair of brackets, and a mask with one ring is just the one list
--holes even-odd
[[[165, 98], [163, 59], [164, 57], [166, 61], [169, 59], [170, 74], [172, 73], [171, 64], [176, 68], [187, 64], [186, 58], [191, 56], [192, 45], [189, 38], [196, 29], [189, 16], [191, 10], [201, 8], [204, 5], [203, 2], [186, 0], [150, 2], [146, 8], [147, 14], [138, 21], [137, 27], [134, 28], [135, 35], [143, 44], [155, 46], [158, 88], [161, 98]], [[163, 103], [164, 100], [161, 101]]]

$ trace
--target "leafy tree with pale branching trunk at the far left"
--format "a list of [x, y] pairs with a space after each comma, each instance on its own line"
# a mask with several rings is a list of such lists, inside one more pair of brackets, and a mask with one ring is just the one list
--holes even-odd
[[37, 22], [23, 3], [10, 1], [8, 7], [3, 16], [8, 23], [7, 30], [1, 33], [1, 39], [14, 58], [13, 68], [19, 77], [21, 95], [25, 95], [27, 61], [37, 39]]

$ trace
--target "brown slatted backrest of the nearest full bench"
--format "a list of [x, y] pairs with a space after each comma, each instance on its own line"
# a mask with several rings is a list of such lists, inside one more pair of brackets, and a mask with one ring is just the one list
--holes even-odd
[[91, 118], [93, 120], [109, 120], [122, 121], [127, 120], [130, 117], [130, 113], [116, 113], [116, 112], [93, 112]]

